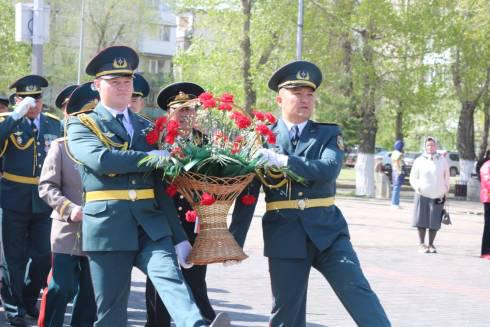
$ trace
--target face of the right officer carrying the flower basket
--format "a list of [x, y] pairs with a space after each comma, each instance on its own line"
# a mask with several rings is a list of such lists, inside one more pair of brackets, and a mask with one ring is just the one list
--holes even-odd
[[282, 88], [276, 102], [282, 109], [284, 119], [299, 124], [311, 117], [315, 107], [315, 92], [307, 86]]

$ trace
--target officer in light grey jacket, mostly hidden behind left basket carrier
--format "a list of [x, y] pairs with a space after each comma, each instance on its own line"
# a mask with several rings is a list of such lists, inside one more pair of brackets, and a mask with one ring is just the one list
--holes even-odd
[[[65, 88], [56, 99], [65, 119], [74, 112], [92, 110], [99, 94], [92, 83]], [[39, 178], [39, 196], [53, 208], [48, 287], [43, 292], [39, 327], [61, 327], [66, 305], [73, 299], [70, 326], [92, 326], [95, 296], [87, 257], [81, 251], [82, 181], [77, 164], [66, 152], [65, 137], [51, 144]]]

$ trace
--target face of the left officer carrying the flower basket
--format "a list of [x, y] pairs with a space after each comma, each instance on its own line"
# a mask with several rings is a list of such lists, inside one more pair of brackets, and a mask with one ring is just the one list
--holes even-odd
[[98, 78], [94, 81], [94, 85], [99, 91], [100, 101], [112, 109], [124, 110], [131, 101], [133, 94], [131, 77]]

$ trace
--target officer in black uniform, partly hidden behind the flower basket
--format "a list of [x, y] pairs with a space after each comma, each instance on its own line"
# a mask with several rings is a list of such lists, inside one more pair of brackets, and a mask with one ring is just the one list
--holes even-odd
[[[165, 111], [168, 110], [169, 116], [179, 122], [181, 137], [191, 138], [195, 136], [195, 133], [198, 133], [192, 129], [196, 114], [195, 109], [181, 107], [181, 105], [182, 103], [196, 98], [203, 92], [204, 89], [197, 84], [179, 82], [163, 88], [158, 94], [158, 106]], [[202, 140], [200, 134], [197, 139], [198, 141]], [[178, 192], [173, 196], [173, 201], [185, 233], [191, 244], [194, 244], [197, 235], [196, 223], [188, 222], [185, 219], [186, 212], [192, 210], [192, 207], [184, 196]], [[206, 270], [207, 266], [199, 265], [184, 269], [182, 270], [182, 273], [186, 283], [192, 290], [192, 294], [194, 295], [194, 299], [196, 300], [201, 315], [206, 321], [211, 322], [216, 317], [216, 313], [209, 302], [206, 286]], [[146, 280], [146, 314], [147, 327], [170, 327], [170, 316], [167, 309], [149, 279]]]

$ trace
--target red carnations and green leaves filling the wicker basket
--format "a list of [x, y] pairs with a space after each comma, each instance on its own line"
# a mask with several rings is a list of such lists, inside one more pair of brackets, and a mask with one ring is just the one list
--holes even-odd
[[153, 160], [149, 156], [142, 164], [162, 169], [170, 178], [183, 170], [234, 177], [255, 172], [261, 165], [256, 151], [262, 147], [262, 140], [269, 144], [276, 142], [276, 135], [269, 128], [276, 122], [274, 115], [260, 111], [248, 115], [234, 104], [229, 93], [215, 98], [212, 93], [204, 92], [176, 110], [187, 108], [195, 109], [195, 116], [189, 117], [189, 121], [179, 123], [170, 114], [157, 119], [154, 128], [146, 133], [146, 141], [158, 144], [170, 157]]

